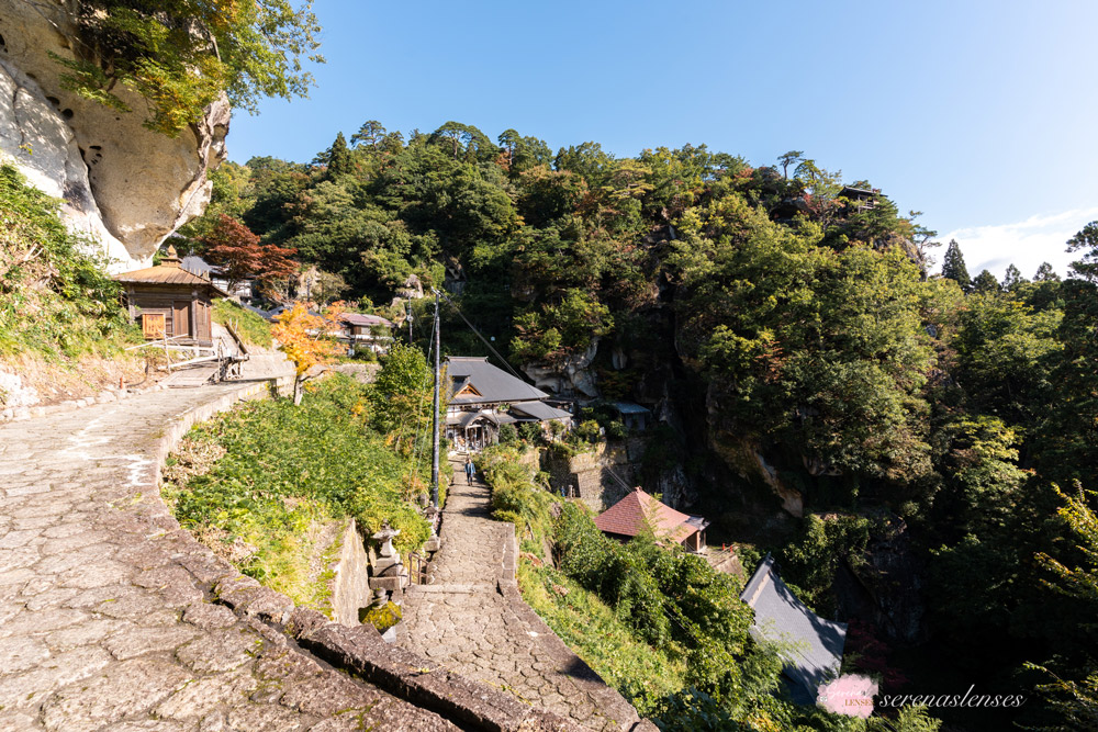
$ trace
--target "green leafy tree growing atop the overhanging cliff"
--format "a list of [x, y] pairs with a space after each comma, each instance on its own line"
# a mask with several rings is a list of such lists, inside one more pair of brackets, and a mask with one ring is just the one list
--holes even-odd
[[304, 97], [304, 60], [323, 61], [311, 2], [79, 0], [74, 60], [55, 56], [67, 89], [120, 112], [121, 83], [148, 103], [145, 126], [175, 137], [217, 94], [255, 113], [262, 97]]

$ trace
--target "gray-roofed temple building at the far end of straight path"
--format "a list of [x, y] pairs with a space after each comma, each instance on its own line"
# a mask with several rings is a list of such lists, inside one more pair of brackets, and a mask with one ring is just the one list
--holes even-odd
[[571, 413], [545, 403], [549, 395], [503, 369], [488, 357], [446, 359], [450, 401], [446, 409], [446, 439], [457, 450], [480, 450], [500, 439], [504, 425], [572, 424]]

